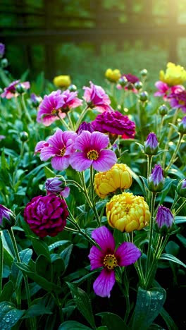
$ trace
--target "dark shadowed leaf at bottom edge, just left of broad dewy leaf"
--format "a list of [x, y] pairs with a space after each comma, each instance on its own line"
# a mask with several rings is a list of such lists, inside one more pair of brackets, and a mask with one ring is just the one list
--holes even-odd
[[125, 330], [128, 329], [123, 319], [121, 319], [118, 315], [102, 312], [97, 315], [102, 317], [102, 324], [107, 327], [108, 330]]

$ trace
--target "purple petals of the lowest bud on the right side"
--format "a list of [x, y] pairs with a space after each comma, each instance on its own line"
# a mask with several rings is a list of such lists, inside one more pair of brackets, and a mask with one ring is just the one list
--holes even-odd
[[173, 225], [173, 220], [174, 217], [170, 209], [160, 205], [156, 215], [156, 224], [158, 227], [162, 228], [163, 226], [166, 226], [167, 228], [171, 228]]

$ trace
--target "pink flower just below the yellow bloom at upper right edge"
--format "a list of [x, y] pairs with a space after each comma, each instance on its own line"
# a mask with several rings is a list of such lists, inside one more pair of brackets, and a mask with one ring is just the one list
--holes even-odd
[[156, 81], [155, 86], [158, 91], [154, 93], [154, 96], [163, 97], [165, 101], [168, 100], [169, 94], [185, 90], [185, 87], [182, 85], [175, 85], [170, 87], [166, 84], [166, 82], [162, 82], [161, 80]]

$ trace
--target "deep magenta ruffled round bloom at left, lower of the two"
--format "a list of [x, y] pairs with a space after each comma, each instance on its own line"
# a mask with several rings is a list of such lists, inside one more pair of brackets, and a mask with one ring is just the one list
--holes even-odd
[[24, 219], [39, 237], [56, 236], [66, 226], [67, 204], [56, 195], [37, 196], [26, 205]]

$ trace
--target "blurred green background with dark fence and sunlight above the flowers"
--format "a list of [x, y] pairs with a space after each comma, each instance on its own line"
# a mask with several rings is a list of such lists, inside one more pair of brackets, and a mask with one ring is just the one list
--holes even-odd
[[153, 84], [168, 61], [186, 66], [186, 0], [0, 0], [0, 42], [15, 79], [104, 87], [106, 68], [147, 68]]

